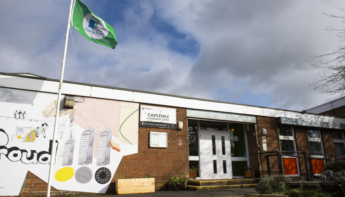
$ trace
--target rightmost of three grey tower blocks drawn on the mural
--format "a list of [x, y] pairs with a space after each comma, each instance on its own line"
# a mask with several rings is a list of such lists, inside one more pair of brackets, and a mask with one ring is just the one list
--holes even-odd
[[105, 129], [98, 137], [97, 165], [110, 163], [110, 145], [112, 130]]

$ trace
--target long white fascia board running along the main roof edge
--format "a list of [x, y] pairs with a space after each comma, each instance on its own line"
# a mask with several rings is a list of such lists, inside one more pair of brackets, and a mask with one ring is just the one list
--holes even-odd
[[[32, 90], [38, 92], [58, 93], [59, 82], [49, 81], [43, 79], [27, 78], [0, 75], [0, 86]], [[331, 116], [315, 115], [315, 114], [301, 114], [295, 111], [280, 110], [273, 108], [265, 108], [258, 106], [248, 106], [235, 103], [217, 102], [212, 100], [199, 100], [194, 98], [183, 98], [171, 95], [160, 95], [149, 92], [135, 92], [131, 90], [118, 90], [108, 87], [95, 87], [88, 84], [74, 84], [64, 82], [62, 87], [62, 94], [95, 97], [104, 99], [115, 99], [123, 101], [134, 101], [140, 103], [156, 104], [183, 107], [190, 109], [219, 111], [236, 114], [246, 114], [251, 116], [266, 116], [266, 117], [286, 117], [286, 118], [302, 118], [309, 121], [331, 122], [345, 124], [345, 119], [335, 118]]]

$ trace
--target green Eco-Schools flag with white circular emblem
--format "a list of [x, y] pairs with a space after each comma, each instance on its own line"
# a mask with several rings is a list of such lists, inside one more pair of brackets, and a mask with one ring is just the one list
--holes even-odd
[[72, 26], [88, 40], [112, 49], [117, 45], [115, 30], [92, 13], [80, 0], [75, 0]]

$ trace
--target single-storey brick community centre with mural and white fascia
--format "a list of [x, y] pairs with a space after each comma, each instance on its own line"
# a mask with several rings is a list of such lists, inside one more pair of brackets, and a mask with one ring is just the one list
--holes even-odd
[[[345, 156], [344, 99], [291, 111], [0, 72], [0, 196], [113, 193], [118, 179], [317, 177]], [[56, 140], [55, 114], [60, 102]]]

